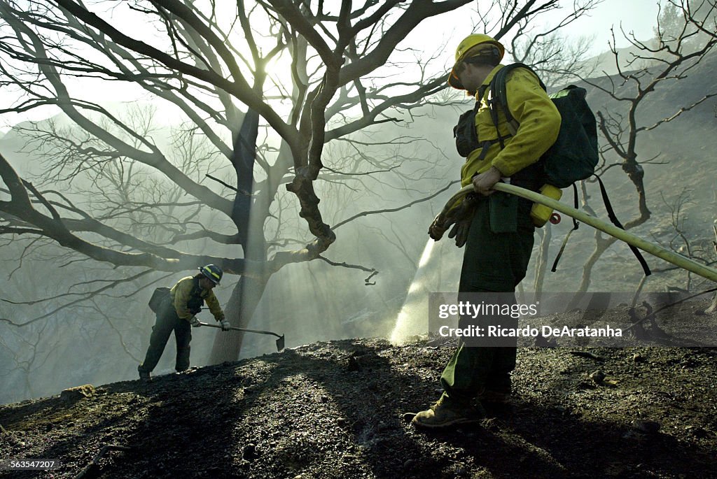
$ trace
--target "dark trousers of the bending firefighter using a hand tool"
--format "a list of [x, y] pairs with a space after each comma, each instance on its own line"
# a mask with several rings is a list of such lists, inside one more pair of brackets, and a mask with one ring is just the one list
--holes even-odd
[[137, 368], [139, 372], [152, 372], [162, 357], [164, 347], [169, 335], [174, 331], [177, 357], [174, 369], [184, 371], [189, 368], [189, 342], [191, 342], [191, 325], [185, 319], [179, 318], [170, 300], [163, 302], [159, 308], [157, 319], [152, 327], [149, 338], [149, 348], [142, 364]]

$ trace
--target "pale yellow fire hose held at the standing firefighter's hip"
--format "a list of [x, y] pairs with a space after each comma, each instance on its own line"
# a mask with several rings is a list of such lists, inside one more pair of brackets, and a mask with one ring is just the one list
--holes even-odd
[[[711, 268], [710, 266], [703, 265], [701, 263], [698, 263], [697, 261], [675, 253], [674, 251], [670, 251], [663, 246], [657, 245], [655, 243], [650, 243], [650, 241], [646, 241], [639, 236], [635, 236], [632, 233], [628, 233], [623, 229], [617, 228], [617, 226], [613, 226], [609, 223], [606, 223], [605, 221], [600, 220], [599, 218], [590, 216], [584, 211], [576, 210], [575, 208], [565, 205], [564, 203], [560, 203], [553, 198], [548, 198], [546, 195], [541, 195], [540, 193], [526, 190], [525, 188], [520, 188], [516, 185], [509, 185], [508, 183], [496, 183], [495, 186], [493, 186], [493, 189], [503, 191], [503, 193], [510, 193], [511, 195], [520, 196], [521, 198], [526, 198], [535, 203], [541, 203], [541, 205], [546, 205], [549, 208], [553, 208], [556, 211], [575, 218], [577, 221], [581, 221], [582, 223], [586, 223], [587, 225], [592, 226], [599, 231], [603, 231], [604, 233], [607, 233], [610, 236], [619, 239], [620, 241], [625, 241], [625, 243], [627, 244], [635, 246], [636, 248], [640, 248], [642, 251], [645, 251], [645, 253], [650, 253], [652, 256], [657, 256], [657, 258], [668, 261], [669, 263], [673, 263], [675, 266], [686, 269], [687, 271], [690, 271], [694, 274], [698, 274], [699, 276], [709, 279], [710, 281], [717, 282], [716, 268]], [[460, 191], [455, 193], [455, 195], [453, 195], [450, 200], [447, 201], [445, 207], [443, 208], [443, 211], [441, 211], [440, 213], [439, 218], [445, 218], [446, 213], [450, 211], [450, 209], [456, 203], [462, 200], [465, 195], [472, 191], [473, 185], [467, 185], [464, 188], [461, 188]]]

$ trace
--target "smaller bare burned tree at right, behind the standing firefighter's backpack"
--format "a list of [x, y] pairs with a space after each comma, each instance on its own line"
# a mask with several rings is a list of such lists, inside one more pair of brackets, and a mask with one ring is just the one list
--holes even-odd
[[[638, 50], [638, 53], [630, 54], [630, 58], [624, 60], [626, 64], [622, 63], [623, 59], [615, 47], [613, 33], [610, 49], [617, 67], [617, 75], [608, 76], [607, 85], [590, 79], [585, 80], [592, 87], [609, 95], [619, 105], [625, 105], [622, 111], [597, 112], [598, 128], [605, 145], [599, 152], [602, 162], [596, 173], [602, 175], [607, 170], [619, 167], [635, 186], [637, 216], [624, 223], [626, 230], [646, 223], [651, 214], [647, 206], [643, 165], [653, 163], [655, 158], [639, 159], [637, 139], [640, 133], [655, 130], [665, 123], [677, 120], [684, 112], [717, 95], [716, 92], [708, 92], [690, 105], [680, 107], [672, 114], [653, 122], [652, 125], [641, 125], [637, 119], [640, 107], [645, 105], [645, 99], [652, 92], [661, 88], [674, 88], [717, 44], [717, 39], [705, 38], [699, 34], [698, 29], [691, 26], [688, 20], [688, 6], [684, 3], [671, 4], [671, 9], [668, 11], [672, 12], [670, 28], [663, 28], [665, 16], [660, 15], [653, 42], [641, 42], [622, 31], [632, 47]], [[588, 197], [584, 185], [583, 198], [587, 211], [592, 212], [589, 203], [586, 203]], [[592, 268], [615, 241], [615, 238], [606, 238], [599, 231], [595, 233], [595, 248], [584, 265], [578, 291], [587, 291]]]

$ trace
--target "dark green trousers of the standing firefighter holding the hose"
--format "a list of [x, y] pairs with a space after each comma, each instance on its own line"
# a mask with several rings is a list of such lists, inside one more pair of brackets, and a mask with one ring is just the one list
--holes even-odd
[[[470, 225], [459, 293], [507, 293], [515, 302], [516, 286], [526, 276], [533, 250], [532, 203], [506, 193], [481, 200]], [[508, 296], [505, 299], [505, 296]], [[460, 294], [459, 294], [460, 298]], [[472, 319], [461, 318], [462, 326]], [[478, 325], [500, 321], [517, 326], [517, 319], [483, 317]], [[467, 402], [483, 390], [509, 392], [516, 367], [516, 342], [503, 347], [470, 347], [461, 342], [441, 374], [444, 396]]]

